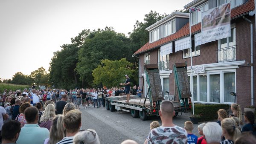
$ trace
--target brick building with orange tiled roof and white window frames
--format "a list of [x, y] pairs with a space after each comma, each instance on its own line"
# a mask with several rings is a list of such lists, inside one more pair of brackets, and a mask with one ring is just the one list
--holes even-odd
[[[192, 63], [193, 67], [203, 67], [204, 72], [192, 74], [193, 84], [190, 84], [190, 88], [193, 88], [195, 103], [232, 104], [235, 98], [230, 92], [236, 92], [236, 103], [241, 107], [255, 105], [256, 67], [251, 67], [251, 46], [253, 62], [256, 60], [254, 0], [231, 0], [231, 37], [195, 46], [195, 35], [201, 33], [201, 13], [226, 2], [193, 0], [184, 6], [185, 9], [195, 6], [201, 10], [191, 14]], [[139, 57], [139, 82], [143, 84], [144, 63], [158, 64], [163, 92], [175, 95], [173, 64], [186, 62], [189, 76], [191, 72], [189, 49], [177, 50], [178, 47], [175, 47], [179, 40], [189, 37], [189, 14], [174, 12], [146, 30], [150, 33], [148, 43], [134, 53]], [[161, 55], [161, 46], [169, 47], [171, 53]], [[254, 84], [251, 83], [252, 77]], [[145, 86], [144, 94], [147, 91]]]

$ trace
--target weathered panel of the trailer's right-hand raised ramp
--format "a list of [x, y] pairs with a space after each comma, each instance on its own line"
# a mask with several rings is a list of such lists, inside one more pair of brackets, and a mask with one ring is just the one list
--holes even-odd
[[191, 92], [189, 87], [189, 79], [186, 71], [177, 72], [178, 85], [181, 92], [181, 98], [190, 98]]

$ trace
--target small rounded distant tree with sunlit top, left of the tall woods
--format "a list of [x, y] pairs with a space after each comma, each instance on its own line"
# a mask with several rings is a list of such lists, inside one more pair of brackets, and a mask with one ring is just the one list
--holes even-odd
[[47, 85], [49, 74], [44, 67], [40, 67], [37, 70], [31, 72], [30, 77], [37, 85]]

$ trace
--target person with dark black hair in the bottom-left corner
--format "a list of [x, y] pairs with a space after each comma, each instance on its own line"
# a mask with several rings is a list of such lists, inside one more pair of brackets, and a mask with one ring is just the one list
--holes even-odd
[[1, 130], [2, 144], [16, 144], [20, 135], [20, 130], [21, 127], [19, 121], [8, 121], [3, 124]]

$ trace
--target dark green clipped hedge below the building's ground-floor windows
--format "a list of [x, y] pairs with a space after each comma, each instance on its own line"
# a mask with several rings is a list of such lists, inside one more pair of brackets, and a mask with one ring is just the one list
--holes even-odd
[[228, 112], [228, 104], [195, 104], [195, 114], [200, 115], [200, 121], [212, 121], [218, 118], [218, 110], [225, 109]]

